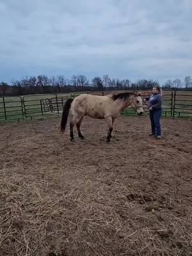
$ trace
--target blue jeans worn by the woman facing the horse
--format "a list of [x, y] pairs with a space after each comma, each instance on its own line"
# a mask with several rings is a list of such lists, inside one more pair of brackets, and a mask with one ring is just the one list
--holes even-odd
[[161, 113], [162, 113], [161, 109], [149, 111], [151, 132], [156, 136], [161, 136], [161, 124], [160, 124]]

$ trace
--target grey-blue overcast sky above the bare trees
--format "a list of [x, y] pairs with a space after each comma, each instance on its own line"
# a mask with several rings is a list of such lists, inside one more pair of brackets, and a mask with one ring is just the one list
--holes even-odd
[[0, 81], [192, 76], [192, 0], [0, 0]]

